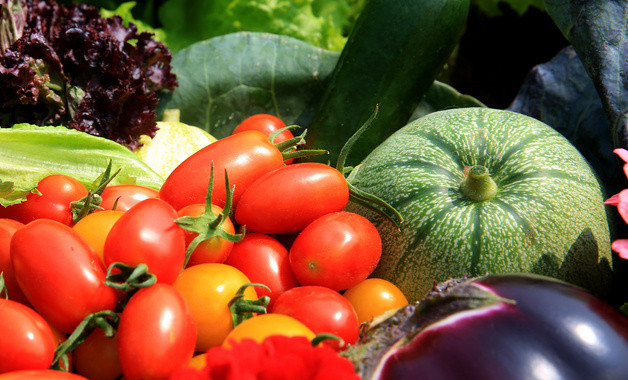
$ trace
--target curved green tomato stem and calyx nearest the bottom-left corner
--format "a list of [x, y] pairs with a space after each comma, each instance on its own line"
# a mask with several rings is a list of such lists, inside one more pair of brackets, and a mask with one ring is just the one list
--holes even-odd
[[[72, 334], [57, 346], [50, 368], [55, 370], [67, 368], [67, 354], [83, 343], [97, 328], [102, 329], [107, 338], [112, 338], [116, 334], [119, 321], [120, 317], [118, 314], [111, 310], [98, 311], [85, 317], [72, 331]], [[66, 364], [65, 366], [64, 363]]]

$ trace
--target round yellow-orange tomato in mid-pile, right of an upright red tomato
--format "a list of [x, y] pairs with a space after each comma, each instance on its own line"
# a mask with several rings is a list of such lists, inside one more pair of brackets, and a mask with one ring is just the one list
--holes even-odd
[[[219, 346], [233, 330], [229, 301], [248, 277], [239, 269], [220, 263], [198, 264], [184, 269], [173, 286], [188, 302], [196, 321], [196, 351]], [[255, 289], [248, 287], [244, 298], [257, 299]]]

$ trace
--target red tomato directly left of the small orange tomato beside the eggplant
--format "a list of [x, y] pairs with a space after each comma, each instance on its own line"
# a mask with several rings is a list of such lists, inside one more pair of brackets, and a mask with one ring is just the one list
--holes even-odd
[[[277, 297], [271, 312], [289, 315], [316, 334], [334, 334], [346, 345], [358, 340], [360, 324], [353, 306], [340, 293], [323, 286], [298, 286], [287, 290]], [[341, 348], [338, 341], [324, 342]]]

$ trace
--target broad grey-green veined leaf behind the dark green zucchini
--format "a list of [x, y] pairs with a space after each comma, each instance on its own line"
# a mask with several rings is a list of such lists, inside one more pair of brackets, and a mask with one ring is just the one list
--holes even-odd
[[[240, 32], [210, 38], [176, 53], [179, 87], [160, 109], [179, 109], [181, 121], [216, 138], [231, 134], [244, 118], [270, 113], [307, 127], [339, 52], [295, 38]], [[444, 108], [482, 106], [451, 86], [435, 82], [413, 118]]]

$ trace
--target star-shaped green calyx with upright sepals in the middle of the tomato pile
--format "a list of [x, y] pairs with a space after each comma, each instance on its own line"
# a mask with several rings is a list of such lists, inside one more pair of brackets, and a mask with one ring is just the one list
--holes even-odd
[[246, 227], [242, 226], [242, 230], [238, 234], [231, 234], [222, 228], [222, 224], [225, 219], [231, 213], [233, 207], [233, 193], [235, 186], [229, 187], [229, 176], [225, 170], [225, 187], [226, 187], [226, 199], [225, 207], [218, 215], [214, 215], [212, 212], [212, 189], [214, 187], [214, 164], [212, 163], [211, 172], [209, 176], [209, 184], [207, 186], [207, 193], [205, 195], [205, 212], [199, 216], [182, 216], [175, 220], [175, 223], [186, 231], [196, 232], [198, 235], [190, 242], [185, 250], [185, 261], [183, 262], [183, 268], [185, 268], [190, 260], [190, 256], [205, 240], [209, 240], [214, 237], [219, 237], [227, 241], [237, 243], [246, 233]]

